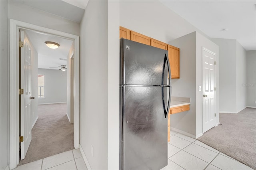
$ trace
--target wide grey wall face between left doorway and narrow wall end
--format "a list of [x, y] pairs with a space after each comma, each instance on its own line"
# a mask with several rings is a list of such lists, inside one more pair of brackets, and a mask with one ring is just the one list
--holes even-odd
[[80, 145], [108, 169], [108, 2], [89, 1], [80, 26]]

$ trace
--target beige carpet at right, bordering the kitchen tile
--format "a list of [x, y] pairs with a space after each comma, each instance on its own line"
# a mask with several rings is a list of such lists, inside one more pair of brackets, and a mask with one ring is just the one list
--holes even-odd
[[220, 124], [198, 140], [256, 169], [256, 109], [220, 113]]

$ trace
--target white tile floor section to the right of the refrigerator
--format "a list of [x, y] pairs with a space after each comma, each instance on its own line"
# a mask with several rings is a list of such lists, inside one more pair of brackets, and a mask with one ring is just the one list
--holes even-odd
[[199, 140], [172, 130], [168, 158], [168, 166], [162, 170], [252, 170]]

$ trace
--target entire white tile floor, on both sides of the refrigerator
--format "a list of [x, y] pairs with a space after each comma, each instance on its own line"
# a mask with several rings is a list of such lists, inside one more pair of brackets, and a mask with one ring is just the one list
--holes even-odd
[[[252, 170], [218, 150], [183, 134], [170, 132], [168, 166], [162, 170]], [[18, 166], [14, 170], [87, 170], [80, 150], [70, 150]]]

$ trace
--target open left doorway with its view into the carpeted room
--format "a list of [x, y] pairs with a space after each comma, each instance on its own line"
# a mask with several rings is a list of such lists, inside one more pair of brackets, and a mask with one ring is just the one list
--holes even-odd
[[[19, 128], [24, 141], [20, 142], [19, 165], [22, 165], [74, 148], [74, 108], [67, 110], [74, 105], [73, 100], [67, 100], [74, 90], [67, 85], [70, 77], [74, 77], [70, 74], [74, 47], [72, 40], [31, 30], [19, 33], [23, 43], [20, 47], [20, 89], [25, 89], [20, 101], [25, 95], [30, 98], [29, 107], [20, 102]], [[49, 40], [58, 42], [60, 47], [51, 49], [44, 43]], [[24, 85], [21, 86], [21, 82]]]

